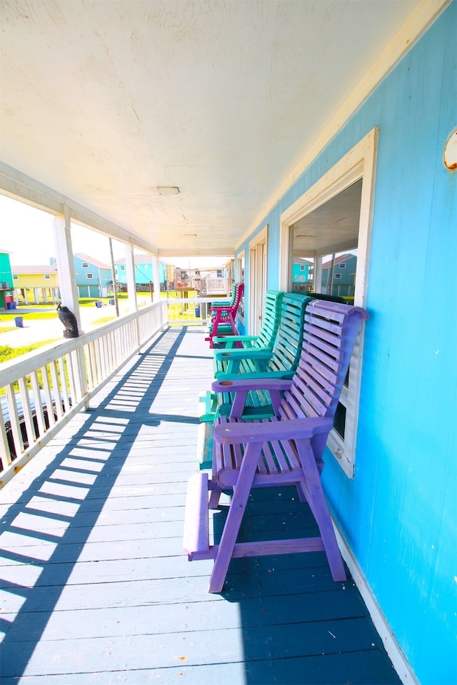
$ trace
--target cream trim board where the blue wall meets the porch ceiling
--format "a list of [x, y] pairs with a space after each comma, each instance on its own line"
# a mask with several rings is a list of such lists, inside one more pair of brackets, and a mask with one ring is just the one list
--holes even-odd
[[426, 30], [436, 21], [439, 14], [441, 14], [446, 6], [451, 4], [452, 0], [422, 0], [418, 5], [416, 11], [411, 14], [408, 21], [401, 27], [398, 34], [393, 38], [386, 49], [381, 53], [376, 62], [368, 69], [366, 76], [361, 80], [356, 88], [351, 92], [346, 102], [341, 109], [333, 116], [331, 122], [323, 129], [322, 133], [311, 147], [306, 152], [298, 165], [291, 169], [284, 177], [281, 186], [278, 186], [276, 191], [268, 198], [268, 201], [263, 205], [263, 208], [258, 213], [257, 218], [251, 223], [251, 226], [246, 230], [241, 240], [238, 240], [236, 249], [248, 239], [249, 235], [256, 229], [256, 227], [265, 220], [268, 213], [283, 197], [284, 193], [288, 191], [298, 176], [305, 171], [311, 162], [323, 151], [323, 148], [328, 145], [338, 131], [343, 128], [346, 122], [351, 118], [353, 113], [361, 106], [363, 101], [368, 98], [370, 93], [378, 86], [379, 83], [386, 78], [387, 74], [392, 71], [394, 66], [411, 50], [411, 47], [416, 41], [426, 32]]

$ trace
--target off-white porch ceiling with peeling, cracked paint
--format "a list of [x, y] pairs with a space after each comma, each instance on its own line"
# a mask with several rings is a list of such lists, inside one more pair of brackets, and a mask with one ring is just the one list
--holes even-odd
[[160, 255], [231, 255], [418, 4], [3, 0], [2, 161]]

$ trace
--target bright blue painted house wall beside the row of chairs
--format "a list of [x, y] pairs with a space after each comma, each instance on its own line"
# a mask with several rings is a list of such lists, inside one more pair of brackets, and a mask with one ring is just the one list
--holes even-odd
[[378, 126], [356, 475], [323, 480], [422, 685], [457, 682], [456, 35], [454, 0], [256, 229], [275, 288], [281, 212]]

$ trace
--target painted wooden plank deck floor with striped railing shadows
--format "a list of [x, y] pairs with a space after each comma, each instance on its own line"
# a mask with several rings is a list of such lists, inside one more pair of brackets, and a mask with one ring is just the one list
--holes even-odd
[[[210, 355], [202, 328], [166, 330], [0, 493], [3, 685], [400, 682], [323, 553], [236, 559], [220, 595], [188, 562]], [[312, 527], [291, 497], [256, 494], [243, 534]]]

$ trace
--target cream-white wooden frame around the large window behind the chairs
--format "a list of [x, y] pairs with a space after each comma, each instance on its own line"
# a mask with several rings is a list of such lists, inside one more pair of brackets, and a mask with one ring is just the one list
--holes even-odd
[[[354, 304], [366, 308], [368, 288], [368, 264], [371, 242], [371, 220], [375, 185], [376, 151], [378, 148], [378, 129], [373, 128], [365, 138], [354, 146], [335, 166], [322, 176], [311, 188], [281, 214], [279, 288], [291, 290], [292, 285], [292, 245], [291, 227], [296, 221], [311, 214], [321, 205], [335, 197], [356, 181], [362, 179], [360, 221], [358, 225], [357, 268]], [[327, 253], [341, 251], [338, 245]], [[320, 283], [321, 271], [316, 254], [316, 283]], [[336, 430], [331, 430], [327, 447], [336, 457], [343, 471], [353, 478], [356, 465], [356, 442], [358, 424], [358, 402], [361, 387], [361, 368], [363, 353], [363, 330], [358, 335], [349, 367], [348, 387], [343, 387], [341, 404], [346, 407], [344, 438]]]

